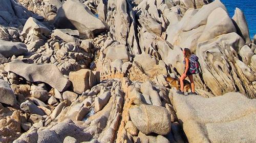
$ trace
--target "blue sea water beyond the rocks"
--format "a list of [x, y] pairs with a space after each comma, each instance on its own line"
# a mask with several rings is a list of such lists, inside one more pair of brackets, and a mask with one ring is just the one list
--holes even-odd
[[236, 8], [244, 12], [252, 39], [256, 34], [256, 0], [221, 0], [221, 2], [226, 6], [230, 17], [233, 17]]

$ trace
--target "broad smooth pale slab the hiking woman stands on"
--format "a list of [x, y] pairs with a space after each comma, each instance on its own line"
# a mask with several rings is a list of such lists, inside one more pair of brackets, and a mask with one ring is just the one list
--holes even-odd
[[256, 101], [240, 93], [214, 98], [174, 94], [173, 105], [189, 142], [256, 141]]

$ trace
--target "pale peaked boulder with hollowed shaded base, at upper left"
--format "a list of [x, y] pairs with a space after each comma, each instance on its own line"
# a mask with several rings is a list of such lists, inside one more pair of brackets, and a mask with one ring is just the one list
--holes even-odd
[[20, 35], [22, 35], [27, 41], [36, 41], [40, 39], [47, 39], [47, 37], [50, 36], [50, 32], [51, 30], [37, 19], [29, 17]]

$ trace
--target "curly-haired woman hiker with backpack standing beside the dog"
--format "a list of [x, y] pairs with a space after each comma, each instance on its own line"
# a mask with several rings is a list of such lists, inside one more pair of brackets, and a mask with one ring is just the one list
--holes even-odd
[[193, 74], [198, 73], [198, 57], [194, 54], [191, 54], [191, 51], [187, 48], [183, 50], [185, 71], [180, 77], [180, 91], [177, 91], [178, 94], [184, 95], [184, 80], [186, 77], [189, 78], [191, 84], [191, 92], [189, 95], [197, 95], [195, 92], [195, 83], [193, 80]]

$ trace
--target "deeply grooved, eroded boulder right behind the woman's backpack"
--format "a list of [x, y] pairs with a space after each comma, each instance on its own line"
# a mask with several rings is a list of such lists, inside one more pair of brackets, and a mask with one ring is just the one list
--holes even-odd
[[215, 96], [239, 91], [254, 98], [255, 89], [251, 82], [255, 72], [238, 59], [238, 52], [244, 45], [243, 38], [234, 32], [198, 43], [197, 56], [202, 76], [195, 80], [199, 82], [197, 88], [206, 89], [206, 85]]

